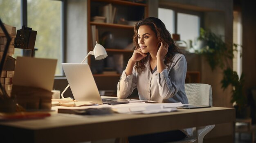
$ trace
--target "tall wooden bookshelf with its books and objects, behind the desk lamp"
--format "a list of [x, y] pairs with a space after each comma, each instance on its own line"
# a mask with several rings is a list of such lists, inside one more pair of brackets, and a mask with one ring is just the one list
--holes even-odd
[[[134, 50], [134, 24], [146, 18], [147, 11], [146, 1], [88, 0], [88, 52], [97, 41], [108, 53], [108, 57], [100, 61], [93, 56], [88, 59], [99, 90], [117, 90], [121, 72]], [[105, 71], [108, 74], [103, 74]], [[106, 85], [108, 89], [104, 88]]]

